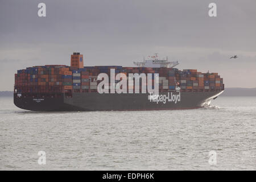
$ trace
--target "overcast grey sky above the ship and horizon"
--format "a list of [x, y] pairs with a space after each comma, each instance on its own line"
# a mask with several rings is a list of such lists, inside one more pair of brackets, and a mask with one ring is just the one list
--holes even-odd
[[[38, 3], [46, 3], [46, 17]], [[217, 4], [217, 17], [208, 5]], [[256, 1], [0, 0], [0, 90], [33, 65], [122, 65], [154, 53], [176, 68], [218, 72], [226, 87], [256, 87]], [[238, 55], [238, 59], [229, 59]]]

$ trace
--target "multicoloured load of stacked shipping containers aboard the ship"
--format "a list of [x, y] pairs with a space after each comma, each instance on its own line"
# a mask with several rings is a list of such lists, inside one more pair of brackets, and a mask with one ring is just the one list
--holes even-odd
[[[74, 68], [66, 65], [45, 65], [18, 70], [15, 74], [15, 89], [18, 93], [64, 93], [64, 92], [95, 92], [97, 89], [97, 76], [106, 73], [109, 76], [109, 89], [115, 86], [110, 84], [110, 69], [115, 69], [115, 75], [124, 73], [159, 73], [159, 91], [175, 90], [180, 86], [181, 92], [223, 90], [223, 79], [217, 73], [201, 73], [196, 69], [176, 68], [143, 68], [101, 66]], [[134, 85], [129, 85], [127, 91], [133, 90]], [[154, 74], [152, 74], [154, 85]], [[141, 90], [141, 86], [140, 86]]]

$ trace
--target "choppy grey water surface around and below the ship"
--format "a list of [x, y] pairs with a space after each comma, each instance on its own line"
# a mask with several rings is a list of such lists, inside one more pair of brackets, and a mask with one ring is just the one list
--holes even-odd
[[46, 113], [0, 102], [0, 169], [256, 169], [256, 97], [164, 111]]

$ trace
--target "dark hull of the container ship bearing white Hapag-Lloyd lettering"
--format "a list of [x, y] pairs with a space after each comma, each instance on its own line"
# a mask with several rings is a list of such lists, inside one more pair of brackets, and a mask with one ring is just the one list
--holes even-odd
[[[172, 110], [197, 109], [221, 92], [180, 92], [180, 101], [150, 102], [149, 94], [73, 93], [72, 98], [16, 97], [14, 104], [33, 111], [106, 111], [106, 110]], [[168, 92], [162, 92], [168, 96]], [[171, 95], [171, 92], [169, 92]], [[172, 94], [179, 94], [172, 92]]]

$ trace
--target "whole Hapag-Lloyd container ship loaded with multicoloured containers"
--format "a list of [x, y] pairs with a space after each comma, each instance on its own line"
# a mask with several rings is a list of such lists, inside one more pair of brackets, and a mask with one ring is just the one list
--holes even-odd
[[[14, 104], [32, 111], [197, 109], [209, 105], [224, 92], [223, 78], [218, 73], [202, 73], [197, 69], [181, 71], [174, 68], [179, 64], [177, 61], [158, 59], [157, 54], [134, 64], [136, 67], [84, 67], [83, 55], [74, 52], [70, 67], [44, 65], [20, 69], [15, 74]], [[100, 73], [109, 76], [109, 82], [102, 87], [108, 93], [98, 92]], [[130, 74], [145, 73], [144, 86], [152, 81], [152, 88], [158, 86], [158, 94], [143, 93], [141, 80], [140, 85], [135, 86], [133, 78], [127, 82], [127, 93], [110, 92], [119, 84], [120, 80], [111, 80], [118, 73], [128, 79]]]

